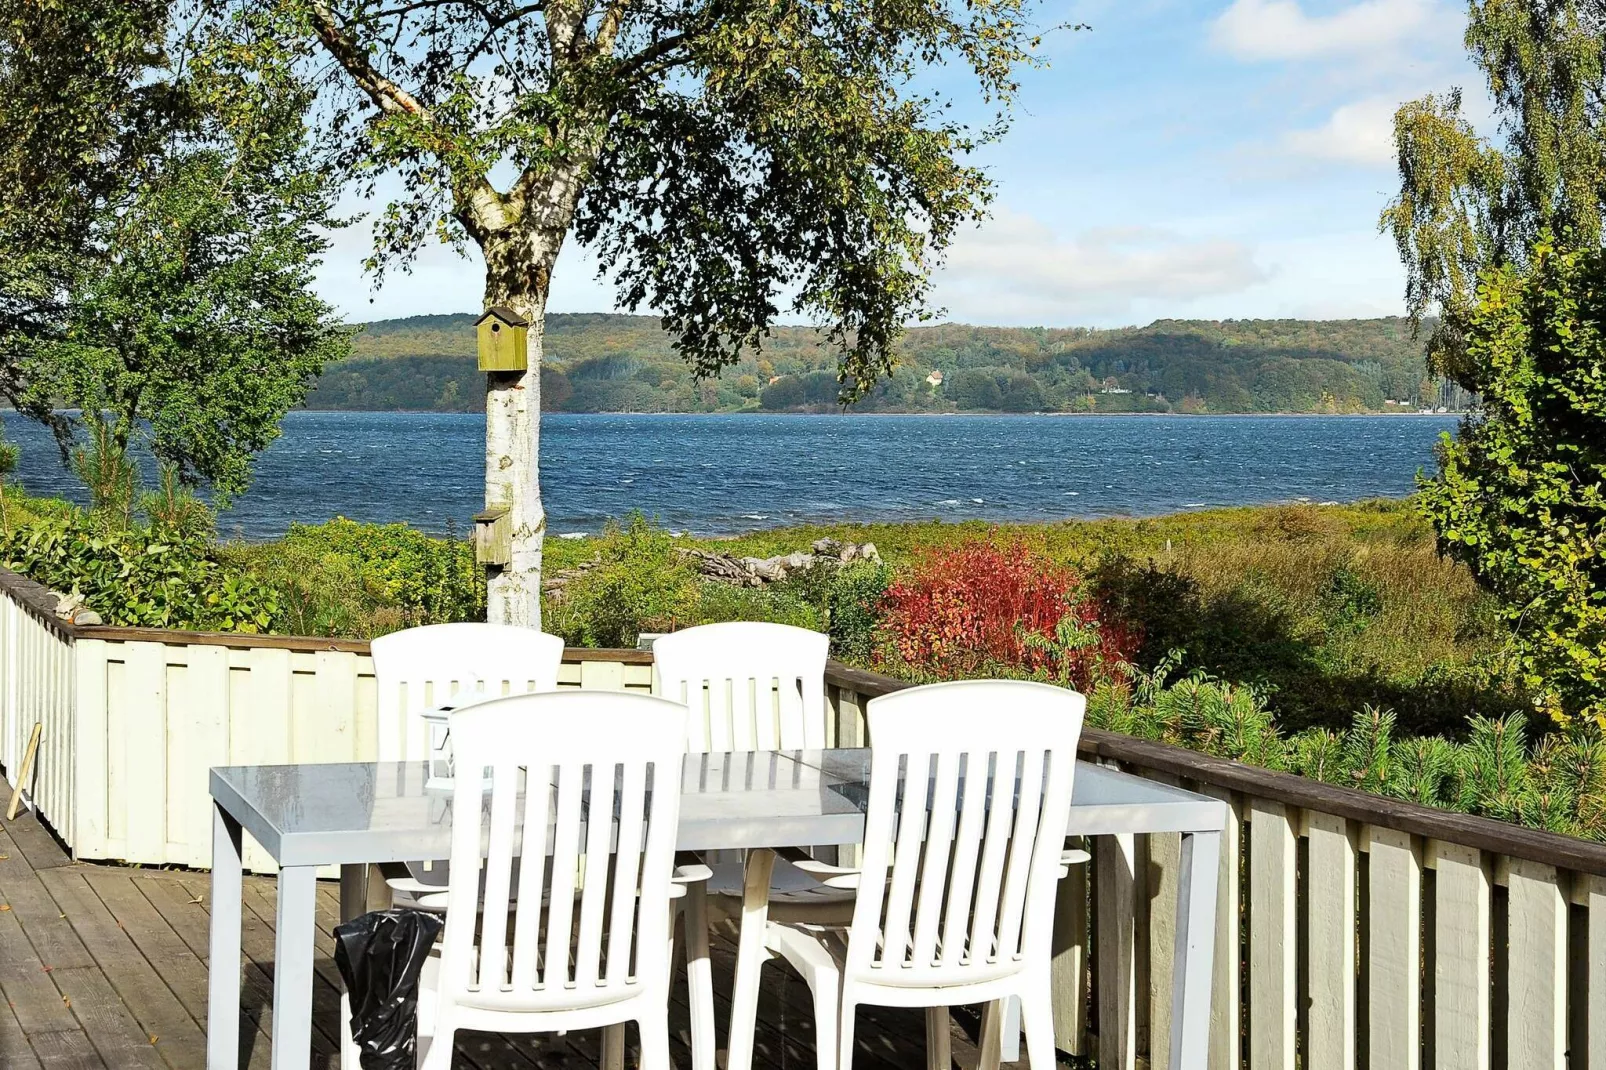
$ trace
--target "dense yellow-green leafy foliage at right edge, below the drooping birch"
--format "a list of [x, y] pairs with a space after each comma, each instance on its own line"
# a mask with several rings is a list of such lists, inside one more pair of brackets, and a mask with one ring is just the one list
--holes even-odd
[[1466, 317], [1482, 413], [1445, 437], [1420, 503], [1492, 588], [1527, 683], [1606, 725], [1606, 254], [1542, 238]]

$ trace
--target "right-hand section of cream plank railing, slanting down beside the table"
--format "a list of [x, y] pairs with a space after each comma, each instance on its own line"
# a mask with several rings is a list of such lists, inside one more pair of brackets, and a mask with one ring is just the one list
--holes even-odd
[[[838, 733], [906, 684], [832, 667]], [[1209, 1065], [1606, 1070], [1606, 845], [1099, 729], [1086, 757], [1224, 798]], [[1058, 1046], [1166, 1065], [1177, 837], [1063, 882]]]

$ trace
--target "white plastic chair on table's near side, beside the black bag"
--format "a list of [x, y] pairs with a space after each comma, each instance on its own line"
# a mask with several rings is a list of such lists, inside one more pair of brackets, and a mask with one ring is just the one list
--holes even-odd
[[[644, 1070], [670, 1070], [686, 717], [609, 691], [451, 715], [458, 768], [490, 770], [491, 787], [459, 776], [453, 792], [446, 929], [419, 996], [422, 1070], [451, 1065], [459, 1030], [604, 1028], [617, 1054], [625, 1022], [641, 1028]], [[551, 858], [535, 864], [548, 829]]]

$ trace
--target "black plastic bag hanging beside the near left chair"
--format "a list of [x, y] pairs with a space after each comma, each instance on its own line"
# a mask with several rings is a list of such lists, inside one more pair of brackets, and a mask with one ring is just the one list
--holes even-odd
[[352, 996], [363, 1070], [413, 1070], [418, 978], [445, 922], [422, 911], [374, 911], [334, 927], [334, 964]]

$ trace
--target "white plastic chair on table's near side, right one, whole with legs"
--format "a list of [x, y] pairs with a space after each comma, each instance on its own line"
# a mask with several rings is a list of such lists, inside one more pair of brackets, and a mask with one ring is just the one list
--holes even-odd
[[983, 1065], [996, 1065], [999, 1007], [1012, 996], [1031, 1065], [1054, 1067], [1054, 896], [1073, 860], [1063, 843], [1084, 709], [1074, 691], [1023, 681], [931, 684], [869, 704], [862, 861], [856, 872], [813, 866], [856, 888], [851, 919], [776, 913], [766, 924], [766, 946], [814, 996], [821, 1070], [851, 1068], [859, 1004], [927, 1007], [927, 1060], [948, 1070], [948, 1007], [986, 1003]]

